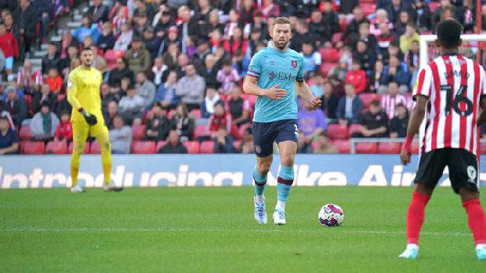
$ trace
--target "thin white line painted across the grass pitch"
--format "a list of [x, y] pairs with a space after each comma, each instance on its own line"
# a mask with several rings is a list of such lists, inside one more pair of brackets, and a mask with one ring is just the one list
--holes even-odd
[[[122, 227], [81, 227], [81, 228], [56, 228], [56, 227], [22, 227], [0, 229], [0, 233], [22, 233], [22, 232], [263, 232], [263, 233], [278, 233], [278, 232], [305, 232], [305, 233], [321, 233], [333, 228], [323, 227], [323, 230], [303, 230], [303, 229], [204, 229], [204, 228], [122, 228]], [[343, 227], [336, 227], [334, 229], [340, 233], [345, 234], [405, 234], [403, 231], [373, 231], [373, 230], [346, 230]], [[471, 234], [463, 232], [421, 232], [421, 235], [432, 236], [471, 236]]]

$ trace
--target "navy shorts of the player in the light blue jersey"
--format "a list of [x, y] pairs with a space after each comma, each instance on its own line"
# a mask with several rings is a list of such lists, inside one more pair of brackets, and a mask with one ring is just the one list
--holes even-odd
[[253, 123], [253, 145], [255, 145], [255, 155], [267, 157], [274, 152], [274, 141], [297, 142], [297, 120], [284, 119], [268, 123]]

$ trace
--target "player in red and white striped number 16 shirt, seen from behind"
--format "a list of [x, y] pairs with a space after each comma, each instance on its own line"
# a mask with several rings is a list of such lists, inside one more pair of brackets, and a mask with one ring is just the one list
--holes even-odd
[[462, 26], [454, 19], [437, 24], [437, 48], [441, 55], [419, 72], [414, 89], [416, 105], [410, 116], [401, 162], [410, 163], [412, 139], [427, 112], [424, 145], [421, 147], [415, 188], [407, 213], [408, 245], [401, 258], [417, 258], [419, 233], [430, 195], [446, 166], [455, 193], [462, 200], [471, 228], [476, 254], [486, 260], [486, 218], [479, 200], [476, 150], [479, 107], [486, 109], [486, 76], [483, 67], [458, 54]]

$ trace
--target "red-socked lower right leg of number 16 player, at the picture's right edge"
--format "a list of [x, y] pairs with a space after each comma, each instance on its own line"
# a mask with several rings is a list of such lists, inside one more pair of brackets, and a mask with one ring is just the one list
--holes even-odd
[[486, 218], [477, 191], [461, 188], [462, 206], [467, 212], [467, 222], [474, 237], [478, 260], [486, 261]]

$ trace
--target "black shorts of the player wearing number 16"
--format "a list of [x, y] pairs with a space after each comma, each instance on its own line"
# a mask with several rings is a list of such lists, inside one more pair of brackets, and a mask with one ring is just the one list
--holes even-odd
[[459, 148], [442, 148], [422, 154], [414, 182], [435, 188], [446, 166], [455, 193], [459, 193], [460, 188], [479, 191], [478, 158]]

